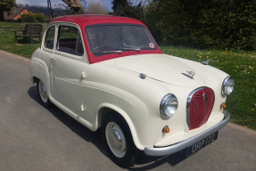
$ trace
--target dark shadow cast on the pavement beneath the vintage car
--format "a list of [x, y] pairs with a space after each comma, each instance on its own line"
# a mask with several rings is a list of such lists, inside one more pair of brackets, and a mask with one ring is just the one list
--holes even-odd
[[[40, 105], [42, 104], [40, 102], [39, 95], [37, 94], [36, 85], [29, 88], [28, 94], [35, 102], [38, 102]], [[58, 118], [58, 120], [60, 120], [65, 126], [68, 126], [72, 132], [78, 134], [78, 136], [83, 138], [85, 141], [92, 142], [104, 156], [110, 158], [108, 151], [103, 144], [101, 129], [98, 129], [96, 132], [89, 130], [86, 126], [83, 126], [56, 106], [48, 109], [45, 108], [45, 110], [48, 110], [55, 118]], [[143, 153], [136, 161], [135, 166], [129, 167], [129, 170], [148, 170], [159, 167], [164, 163], [169, 163], [171, 166], [175, 166], [186, 158], [186, 151], [179, 151], [166, 157], [150, 157]]]

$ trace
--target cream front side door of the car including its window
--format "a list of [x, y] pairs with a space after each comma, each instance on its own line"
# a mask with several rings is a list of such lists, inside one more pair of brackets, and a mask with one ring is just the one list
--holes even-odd
[[59, 24], [52, 58], [51, 93], [62, 110], [84, 118], [84, 84], [88, 63], [78, 26]]

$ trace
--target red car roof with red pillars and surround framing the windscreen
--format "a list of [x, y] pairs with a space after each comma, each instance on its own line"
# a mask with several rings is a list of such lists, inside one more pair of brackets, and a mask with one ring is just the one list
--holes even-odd
[[[145, 54], [145, 53], [161, 53], [161, 50], [159, 46], [157, 45], [156, 50], [142, 50], [139, 53], [136, 51], [132, 52], [123, 52], [121, 54], [117, 53], [111, 53], [111, 54], [106, 54], [101, 57], [96, 57], [93, 53], [90, 51], [90, 47], [87, 42], [87, 35], [85, 32], [85, 28], [89, 25], [97, 25], [97, 24], [107, 24], [107, 23], [118, 23], [118, 24], [138, 24], [138, 25], [143, 25], [145, 24], [141, 22], [140, 20], [136, 19], [131, 19], [127, 17], [119, 17], [119, 16], [111, 16], [111, 15], [86, 15], [86, 14], [81, 14], [81, 15], [65, 15], [62, 17], [57, 17], [53, 20], [50, 21], [50, 23], [54, 22], [70, 22], [70, 23], [75, 23], [81, 28], [82, 31], [82, 37], [84, 37], [84, 43], [86, 46], [86, 51], [87, 51], [87, 58], [89, 63], [95, 63], [99, 61], [106, 61], [110, 60], [113, 58], [119, 58], [123, 56], [128, 56], [128, 55], [135, 55], [135, 54]], [[145, 26], [146, 28], [146, 26]]]

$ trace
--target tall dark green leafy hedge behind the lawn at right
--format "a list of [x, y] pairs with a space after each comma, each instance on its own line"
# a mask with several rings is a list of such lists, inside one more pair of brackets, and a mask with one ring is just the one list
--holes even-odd
[[252, 0], [153, 0], [143, 21], [163, 45], [256, 49]]

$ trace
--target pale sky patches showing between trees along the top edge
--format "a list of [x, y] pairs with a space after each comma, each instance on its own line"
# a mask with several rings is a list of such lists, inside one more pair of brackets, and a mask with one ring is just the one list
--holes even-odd
[[[111, 11], [111, 1], [112, 0], [86, 0], [87, 4], [93, 3], [93, 2], [100, 2], [103, 4], [106, 9]], [[132, 0], [134, 4], [137, 4], [138, 0]], [[30, 6], [47, 6], [47, 0], [16, 0], [17, 4], [29, 4]], [[81, 0], [81, 4], [83, 5], [84, 1]], [[58, 6], [58, 4], [64, 4], [62, 0], [51, 0], [52, 7]]]

